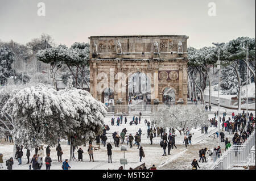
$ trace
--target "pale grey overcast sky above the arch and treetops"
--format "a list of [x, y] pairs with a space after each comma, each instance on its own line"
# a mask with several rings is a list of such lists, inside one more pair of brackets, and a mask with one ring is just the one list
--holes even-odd
[[[39, 2], [46, 16], [37, 15]], [[187, 35], [201, 48], [255, 37], [255, 0], [0, 0], [0, 40], [24, 44], [42, 33], [68, 47], [95, 35]]]

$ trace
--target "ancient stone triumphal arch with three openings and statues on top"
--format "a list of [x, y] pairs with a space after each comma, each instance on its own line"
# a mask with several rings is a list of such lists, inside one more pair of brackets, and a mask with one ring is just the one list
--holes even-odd
[[128, 80], [142, 72], [150, 79], [151, 104], [163, 103], [167, 87], [175, 104], [187, 104], [187, 39], [185, 35], [91, 36], [90, 94], [104, 102], [113, 90], [115, 104], [127, 106]]

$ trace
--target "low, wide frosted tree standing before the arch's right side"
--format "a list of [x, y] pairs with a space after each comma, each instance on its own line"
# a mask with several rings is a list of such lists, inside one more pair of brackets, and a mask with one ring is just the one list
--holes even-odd
[[197, 106], [159, 106], [152, 112], [152, 123], [157, 127], [174, 128], [185, 133], [191, 128], [209, 125], [208, 115], [203, 107]]

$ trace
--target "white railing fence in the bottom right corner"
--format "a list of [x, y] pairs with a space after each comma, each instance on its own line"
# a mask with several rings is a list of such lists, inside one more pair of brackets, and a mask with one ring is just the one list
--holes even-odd
[[255, 130], [243, 144], [232, 145], [216, 162], [209, 166], [209, 170], [228, 170], [234, 167], [247, 166], [251, 162], [251, 148], [253, 146], [255, 146]]

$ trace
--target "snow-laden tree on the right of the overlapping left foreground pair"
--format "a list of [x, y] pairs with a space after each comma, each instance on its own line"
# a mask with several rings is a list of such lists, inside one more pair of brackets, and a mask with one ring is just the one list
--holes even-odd
[[71, 138], [71, 159], [73, 155], [72, 145], [83, 145], [86, 141], [93, 140], [102, 133], [106, 107], [89, 94], [88, 91], [72, 87], [72, 78], [69, 78], [65, 90], [60, 91], [67, 101], [71, 102], [76, 112], [79, 113], [78, 126], [67, 130], [67, 136]]

